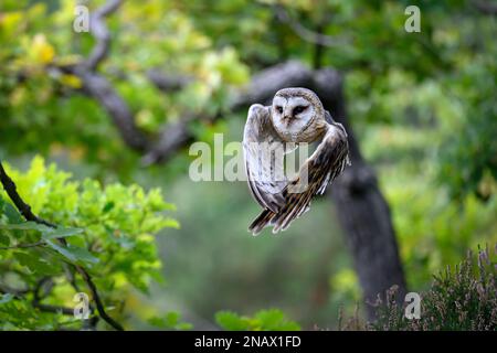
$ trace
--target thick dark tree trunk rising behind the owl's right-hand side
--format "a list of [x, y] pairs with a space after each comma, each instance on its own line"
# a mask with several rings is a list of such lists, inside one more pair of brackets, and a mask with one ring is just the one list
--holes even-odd
[[[315, 90], [335, 120], [341, 122], [349, 135], [350, 158], [348, 167], [331, 188], [338, 220], [346, 233], [366, 301], [373, 302], [378, 295], [396, 285], [399, 298], [406, 292], [404, 274], [399, 257], [390, 208], [378, 188], [373, 170], [363, 160], [359, 145], [349, 124], [341, 76], [332, 69], [315, 75]], [[369, 319], [373, 308], [367, 306]]]

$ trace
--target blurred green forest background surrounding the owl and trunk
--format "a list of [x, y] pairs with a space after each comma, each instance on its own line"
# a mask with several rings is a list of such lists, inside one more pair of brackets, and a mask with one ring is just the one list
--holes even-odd
[[[73, 26], [77, 4], [89, 32]], [[419, 33], [404, 30], [410, 4]], [[342, 77], [346, 110], [329, 109], [389, 205], [395, 276], [427, 289], [497, 242], [496, 13], [489, 0], [2, 0], [0, 159], [33, 212], [70, 231], [25, 225], [0, 192], [0, 328], [78, 328], [64, 311], [86, 291], [77, 266], [127, 329], [367, 318], [339, 195], [252, 237], [245, 182], [188, 175], [190, 143], [240, 141], [254, 77], [282, 67]]]

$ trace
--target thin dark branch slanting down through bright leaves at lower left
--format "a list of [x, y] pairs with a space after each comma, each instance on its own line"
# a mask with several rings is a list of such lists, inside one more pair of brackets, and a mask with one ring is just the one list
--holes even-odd
[[[19, 212], [24, 216], [24, 218], [27, 221], [32, 221], [32, 222], [35, 222], [39, 224], [44, 224], [52, 228], [57, 227], [55, 224], [44, 221], [43, 218], [40, 218], [32, 213], [31, 206], [28, 205], [22, 200], [22, 197], [19, 195], [15, 183], [7, 174], [1, 161], [0, 161], [0, 182], [2, 183], [3, 189], [6, 190], [9, 197], [14, 203], [15, 207], [19, 210]], [[67, 243], [65, 242], [64, 238], [60, 238], [59, 240], [63, 246], [67, 246]], [[95, 300], [95, 304], [97, 307], [97, 311], [98, 311], [98, 314], [101, 315], [101, 318], [104, 319], [114, 329], [116, 329], [118, 331], [123, 331], [124, 330], [123, 327], [118, 322], [116, 322], [113, 318], [110, 318], [107, 314], [107, 312], [105, 311], [101, 296], [98, 295], [98, 290], [97, 290], [95, 284], [93, 282], [92, 277], [89, 276], [88, 271], [80, 265], [73, 265], [73, 266], [76, 269], [76, 271], [82, 276], [82, 278], [86, 282], [87, 287], [89, 288], [89, 291], [92, 292], [92, 297]]]

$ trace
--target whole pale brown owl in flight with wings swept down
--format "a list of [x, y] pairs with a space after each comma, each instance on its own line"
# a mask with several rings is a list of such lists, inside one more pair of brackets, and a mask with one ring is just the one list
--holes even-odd
[[[287, 180], [283, 154], [315, 141], [320, 141], [319, 146], [298, 173]], [[266, 226], [273, 226], [273, 233], [285, 231], [309, 210], [311, 199], [322, 194], [350, 164], [345, 128], [307, 88], [284, 88], [276, 93], [272, 106], [250, 107], [243, 153], [248, 189], [264, 208], [248, 226], [253, 235]]]

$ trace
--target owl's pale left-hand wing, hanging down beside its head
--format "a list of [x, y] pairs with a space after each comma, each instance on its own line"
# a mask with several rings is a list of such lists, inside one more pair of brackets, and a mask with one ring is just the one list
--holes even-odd
[[288, 181], [284, 175], [283, 154], [295, 148], [276, 133], [269, 107], [260, 104], [250, 107], [243, 133], [245, 172], [252, 195], [264, 208], [276, 213], [284, 205], [282, 192]]

